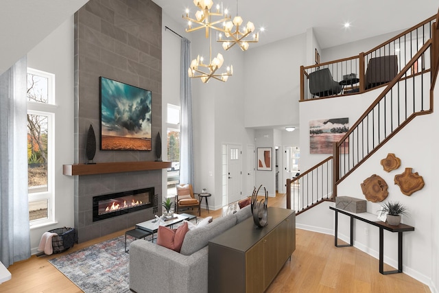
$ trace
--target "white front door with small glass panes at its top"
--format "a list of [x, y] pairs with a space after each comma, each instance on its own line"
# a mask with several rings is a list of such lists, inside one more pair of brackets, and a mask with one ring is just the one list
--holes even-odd
[[227, 195], [228, 204], [242, 197], [241, 145], [227, 145]]

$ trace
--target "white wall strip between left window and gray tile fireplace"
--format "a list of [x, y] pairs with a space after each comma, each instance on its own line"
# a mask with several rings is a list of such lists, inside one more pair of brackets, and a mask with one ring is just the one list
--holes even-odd
[[73, 163], [73, 16], [27, 54], [27, 66], [55, 74], [55, 224], [31, 228], [32, 253], [44, 232], [73, 227], [73, 177], [62, 175], [62, 165]]

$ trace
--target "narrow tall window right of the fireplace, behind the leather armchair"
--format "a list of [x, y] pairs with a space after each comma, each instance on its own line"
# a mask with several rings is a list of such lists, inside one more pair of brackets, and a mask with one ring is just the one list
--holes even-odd
[[167, 104], [167, 169], [168, 194], [175, 194], [175, 186], [180, 180], [180, 106]]

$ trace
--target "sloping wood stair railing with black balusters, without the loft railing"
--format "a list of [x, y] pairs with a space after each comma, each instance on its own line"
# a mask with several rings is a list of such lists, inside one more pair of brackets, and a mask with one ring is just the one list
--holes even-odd
[[[427, 21], [430, 21], [430, 19]], [[425, 24], [425, 22], [426, 21], [421, 24]], [[300, 174], [300, 176], [287, 179], [287, 209], [295, 209], [296, 214], [299, 214], [311, 209], [311, 207], [314, 207], [321, 202], [335, 201], [335, 197], [337, 196], [337, 185], [339, 185], [342, 180], [344, 180], [349, 174], [352, 174], [359, 165], [364, 163], [364, 161], [372, 156], [373, 153], [377, 152], [381, 146], [394, 137], [394, 135], [412, 121], [412, 119], [418, 115], [427, 115], [433, 112], [433, 91], [439, 72], [438, 23], [439, 10], [436, 15], [436, 22], [431, 24], [431, 38], [424, 43], [423, 47], [421, 47], [416, 54], [414, 54], [413, 58], [407, 62], [407, 65], [401, 69], [399, 74], [396, 75], [394, 80], [392, 80], [377, 99], [375, 99], [364, 115], [361, 115], [360, 119], [357, 120], [346, 135], [344, 135], [338, 143], [334, 143], [333, 156], [330, 156], [313, 166], [311, 169]], [[416, 29], [416, 26], [412, 29]], [[403, 34], [406, 34], [406, 32]], [[383, 45], [384, 44], [387, 43], [383, 43]], [[415, 62], [419, 61], [422, 67], [421, 71], [414, 73], [413, 66], [415, 65]], [[303, 67], [301, 67], [301, 72], [302, 69]], [[430, 79], [429, 89], [425, 89], [424, 86], [424, 79], [426, 76], [429, 76]], [[409, 87], [409, 94], [410, 89], [412, 90], [410, 101], [407, 101], [407, 85], [411, 86]], [[403, 107], [399, 104], [401, 86], [403, 86], [405, 93], [403, 97], [405, 105]], [[394, 99], [394, 95], [398, 97], [397, 101]], [[425, 96], [428, 96], [429, 98], [425, 99]], [[388, 117], [388, 119], [384, 119], [384, 122], [380, 122], [380, 115], [382, 113], [384, 113], [384, 115], [389, 113], [389, 103], [392, 105], [390, 106], [390, 118]], [[394, 104], [397, 105], [396, 107], [398, 110], [394, 110]], [[401, 108], [403, 109], [403, 119], [401, 119]], [[377, 111], [377, 117], [375, 117], [375, 111]], [[394, 117], [394, 113], [397, 113], [397, 118]], [[370, 117], [372, 117], [372, 119]], [[371, 120], [371, 124], [368, 119]], [[364, 133], [366, 120], [368, 121], [367, 125], [372, 126], [372, 132], [374, 133], [372, 136], [372, 143], [369, 141], [368, 134], [366, 134], [366, 137], [363, 135], [362, 138], [359, 139], [359, 129], [361, 127], [361, 133]], [[379, 128], [377, 132], [373, 130], [375, 124], [378, 124]], [[388, 132], [389, 129], [390, 132]], [[368, 133], [369, 132], [370, 131], [368, 130]], [[377, 143], [375, 143], [375, 138], [377, 139]], [[341, 149], [346, 148], [344, 144], [344, 141], [346, 140], [348, 140], [349, 150], [352, 151], [344, 154], [346, 153], [346, 150], [342, 152]], [[360, 144], [361, 159], [359, 156]], [[357, 146], [357, 152], [355, 152], [355, 146]], [[368, 148], [366, 154], [364, 154], [365, 147]], [[355, 155], [357, 156], [356, 158]], [[332, 165], [332, 167], [330, 168], [329, 165]], [[331, 170], [331, 172], [324, 172], [324, 169]], [[320, 179], [318, 177], [319, 172], [321, 172]], [[314, 177], [314, 174], [316, 174], [316, 178]], [[324, 179], [325, 176], [326, 179]], [[331, 188], [325, 187], [329, 185], [329, 180], [331, 180]]]

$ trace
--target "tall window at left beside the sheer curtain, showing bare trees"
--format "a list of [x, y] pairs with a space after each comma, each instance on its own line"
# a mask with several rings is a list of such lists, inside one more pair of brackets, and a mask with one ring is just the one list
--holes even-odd
[[27, 174], [31, 226], [54, 219], [54, 84], [53, 74], [27, 69]]

